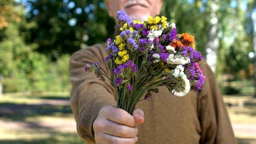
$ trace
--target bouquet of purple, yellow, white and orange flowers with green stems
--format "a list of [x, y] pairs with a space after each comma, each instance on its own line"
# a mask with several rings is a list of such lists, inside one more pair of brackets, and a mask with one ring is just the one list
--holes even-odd
[[166, 86], [174, 96], [201, 89], [205, 76], [198, 62], [203, 56], [194, 50], [193, 36], [177, 34], [175, 24], [169, 24], [164, 16], [139, 22], [120, 10], [117, 18], [122, 32], [113, 42], [106, 42], [111, 55], [105, 60], [112, 78], [100, 70], [98, 62], [85, 64], [85, 70], [112, 82], [118, 94], [118, 108], [132, 114], [137, 102], [150, 100], [158, 86]]

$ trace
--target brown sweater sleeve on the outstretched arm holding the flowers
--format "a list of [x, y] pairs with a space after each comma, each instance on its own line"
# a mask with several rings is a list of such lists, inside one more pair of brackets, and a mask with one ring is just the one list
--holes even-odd
[[70, 58], [69, 72], [72, 83], [71, 107], [79, 136], [88, 144], [95, 143], [92, 124], [103, 106], [116, 106], [116, 92], [110, 80], [99, 80], [94, 72], [85, 72], [84, 65], [99, 62], [102, 71], [110, 75], [105, 63], [108, 52], [103, 44], [79, 50]]

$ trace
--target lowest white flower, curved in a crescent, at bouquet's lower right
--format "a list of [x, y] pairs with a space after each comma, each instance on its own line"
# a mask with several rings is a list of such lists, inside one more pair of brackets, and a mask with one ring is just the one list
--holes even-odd
[[190, 84], [189, 84], [189, 80], [187, 79], [187, 76], [184, 75], [182, 76], [182, 90], [181, 88], [178, 88], [178, 89], [173, 89], [172, 90], [172, 94], [174, 94], [175, 96], [185, 96], [189, 90], [190, 90]]

